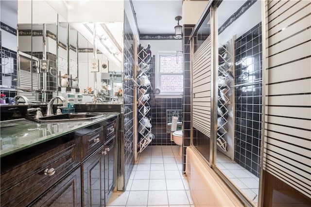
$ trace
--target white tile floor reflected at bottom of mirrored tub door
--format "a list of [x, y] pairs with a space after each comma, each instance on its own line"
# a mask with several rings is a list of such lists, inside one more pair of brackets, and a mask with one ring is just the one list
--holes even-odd
[[227, 156], [217, 153], [216, 166], [257, 206], [259, 178]]

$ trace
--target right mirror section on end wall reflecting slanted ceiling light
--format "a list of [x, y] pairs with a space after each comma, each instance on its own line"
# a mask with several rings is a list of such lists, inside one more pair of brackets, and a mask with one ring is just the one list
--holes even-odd
[[[99, 26], [96, 29], [94, 41], [94, 24]], [[113, 24], [116, 24], [114, 30]], [[115, 92], [122, 88], [121, 72], [121, 48], [118, 47], [121, 42], [119, 38], [122, 34], [120, 23], [72, 23], [70, 26], [78, 31], [78, 69], [79, 77], [85, 81], [79, 82], [79, 87], [86, 95], [89, 93], [86, 88], [91, 88], [91, 95], [96, 95], [101, 100], [110, 102], [117, 100]], [[109, 25], [109, 27], [107, 26]], [[119, 30], [117, 29], [119, 28]], [[104, 31], [105, 30], [105, 35]], [[108, 31], [108, 32], [107, 32]], [[102, 34], [101, 34], [102, 33]], [[113, 33], [113, 34], [112, 34]], [[120, 33], [120, 34], [119, 34]], [[109, 35], [110, 34], [110, 35]], [[115, 35], [116, 34], [116, 35]], [[114, 41], [113, 41], [113, 40]], [[118, 40], [117, 40], [118, 39]], [[120, 41], [120, 42], [119, 42]], [[99, 63], [99, 72], [90, 71], [90, 60], [95, 58], [93, 43], [96, 43], [96, 59]], [[117, 46], [116, 46], [117, 45]], [[110, 52], [109, 52], [110, 50]], [[117, 51], [117, 52], [116, 52]], [[118, 52], [119, 51], [119, 52]], [[120, 57], [119, 57], [120, 56]], [[87, 78], [87, 81], [86, 81]], [[96, 80], [96, 81], [95, 81]], [[96, 94], [94, 94], [96, 93]], [[86, 98], [86, 96], [84, 96]], [[86, 98], [92, 101], [91, 98]]]

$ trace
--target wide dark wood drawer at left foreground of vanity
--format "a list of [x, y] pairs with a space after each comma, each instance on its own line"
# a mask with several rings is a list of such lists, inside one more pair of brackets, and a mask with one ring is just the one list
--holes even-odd
[[27, 206], [80, 163], [73, 134], [1, 157], [1, 207]]

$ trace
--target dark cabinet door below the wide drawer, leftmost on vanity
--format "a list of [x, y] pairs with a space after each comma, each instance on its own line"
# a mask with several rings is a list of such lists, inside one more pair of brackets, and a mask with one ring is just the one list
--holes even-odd
[[80, 207], [81, 168], [59, 180], [54, 186], [35, 200], [33, 207]]

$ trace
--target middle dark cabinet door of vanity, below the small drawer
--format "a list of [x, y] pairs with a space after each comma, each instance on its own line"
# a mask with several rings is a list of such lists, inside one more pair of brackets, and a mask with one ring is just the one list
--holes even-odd
[[82, 163], [83, 206], [104, 206], [103, 146]]

